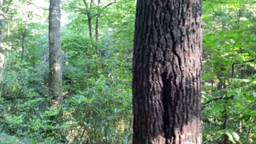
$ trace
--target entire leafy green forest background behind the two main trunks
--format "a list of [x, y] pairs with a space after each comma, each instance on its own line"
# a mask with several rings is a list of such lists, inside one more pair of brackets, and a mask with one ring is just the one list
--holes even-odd
[[[256, 142], [256, 1], [203, 1], [204, 143]], [[48, 1], [0, 10], [0, 143], [130, 143], [135, 2], [62, 0], [62, 105], [50, 105]], [[62, 124], [54, 117], [63, 110]]]

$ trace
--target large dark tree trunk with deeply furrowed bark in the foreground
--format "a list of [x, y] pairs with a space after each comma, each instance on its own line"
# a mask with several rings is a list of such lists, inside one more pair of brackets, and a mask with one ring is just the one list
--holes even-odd
[[201, 0], [138, 0], [134, 143], [202, 143]]

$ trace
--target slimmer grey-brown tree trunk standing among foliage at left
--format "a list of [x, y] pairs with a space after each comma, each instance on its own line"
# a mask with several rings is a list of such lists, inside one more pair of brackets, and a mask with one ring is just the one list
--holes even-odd
[[61, 48], [61, 9], [60, 0], [50, 0], [49, 13], [49, 94], [57, 104], [63, 102], [62, 97], [62, 48]]

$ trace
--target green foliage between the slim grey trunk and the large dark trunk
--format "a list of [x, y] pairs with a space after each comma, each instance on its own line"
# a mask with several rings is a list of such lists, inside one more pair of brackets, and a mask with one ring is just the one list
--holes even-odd
[[[121, 3], [120, 5], [124, 5]], [[114, 5], [115, 6], [115, 5]], [[119, 6], [119, 5], [118, 5]], [[70, 127], [68, 139], [82, 143], [128, 143], [131, 141], [131, 47], [130, 17], [109, 26], [108, 18], [115, 9], [107, 9], [102, 16], [99, 42], [89, 36], [66, 35], [62, 49], [66, 55], [63, 66], [64, 87], [68, 91], [66, 105]], [[113, 15], [115, 16], [115, 15]], [[79, 17], [78, 17], [79, 18]], [[106, 18], [106, 19], [104, 19]], [[122, 18], [118, 17], [120, 20]], [[76, 20], [70, 26], [78, 27]], [[81, 26], [79, 26], [81, 29]], [[74, 33], [77, 29], [73, 29]], [[73, 31], [72, 30], [72, 31]], [[122, 34], [123, 35], [118, 35]], [[100, 54], [95, 54], [95, 47]], [[127, 49], [127, 47], [129, 49]]]

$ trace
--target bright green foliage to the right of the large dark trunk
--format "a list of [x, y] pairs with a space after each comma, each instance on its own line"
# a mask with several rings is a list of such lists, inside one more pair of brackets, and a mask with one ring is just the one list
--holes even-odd
[[203, 136], [206, 143], [255, 142], [254, 1], [205, 2]]

